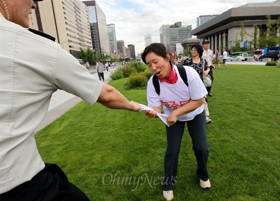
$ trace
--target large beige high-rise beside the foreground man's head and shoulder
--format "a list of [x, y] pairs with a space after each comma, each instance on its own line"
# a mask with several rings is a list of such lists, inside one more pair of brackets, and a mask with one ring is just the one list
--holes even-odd
[[79, 0], [34, 2], [30, 28], [54, 37], [75, 58], [80, 48], [93, 49], [88, 10]]

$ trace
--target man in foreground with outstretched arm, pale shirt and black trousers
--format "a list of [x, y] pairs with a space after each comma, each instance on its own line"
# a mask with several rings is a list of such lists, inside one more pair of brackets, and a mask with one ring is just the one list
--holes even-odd
[[37, 150], [34, 130], [52, 93], [65, 90], [89, 105], [141, 107], [91, 75], [60, 44], [28, 31], [35, 8], [32, 0], [0, 2], [0, 200], [89, 200]]

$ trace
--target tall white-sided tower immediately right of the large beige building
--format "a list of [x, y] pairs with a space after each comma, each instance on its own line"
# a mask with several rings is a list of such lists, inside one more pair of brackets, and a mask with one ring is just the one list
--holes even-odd
[[92, 43], [95, 54], [99, 53], [100, 55], [108, 55], [110, 49], [106, 16], [96, 1], [85, 1], [83, 3], [88, 7]]

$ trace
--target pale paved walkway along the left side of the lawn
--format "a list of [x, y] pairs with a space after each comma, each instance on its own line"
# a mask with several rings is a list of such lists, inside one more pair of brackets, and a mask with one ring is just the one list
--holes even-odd
[[[120, 66], [115, 66], [115, 68], [111, 67], [111, 71], [116, 70], [118, 67], [120, 67]], [[91, 74], [93, 74], [94, 76], [98, 77], [96, 70], [91, 69], [91, 70], [89, 70], [89, 72]], [[104, 82], [105, 83], [107, 83], [108, 81], [111, 80], [109, 75], [110, 75], [110, 72], [107, 72], [105, 70], [105, 72], [104, 72], [104, 78], [105, 78]], [[51, 97], [51, 100], [50, 100], [47, 116], [45, 117], [43, 122], [36, 128], [35, 133], [38, 132], [39, 130], [43, 129], [45, 126], [47, 126], [54, 120], [58, 119], [60, 116], [62, 116], [62, 114], [67, 112], [70, 108], [72, 108], [74, 105], [76, 105], [80, 101], [81, 101], [81, 98], [79, 98], [73, 94], [69, 94], [63, 90], [58, 90], [58, 91], [54, 92]]]

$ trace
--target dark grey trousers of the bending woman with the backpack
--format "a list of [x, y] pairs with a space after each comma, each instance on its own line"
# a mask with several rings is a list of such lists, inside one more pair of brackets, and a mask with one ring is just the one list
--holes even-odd
[[[167, 148], [164, 156], [163, 190], [172, 190], [178, 180], [176, 178], [178, 158], [185, 123], [177, 121], [173, 126], [166, 126]], [[207, 141], [205, 111], [195, 116], [193, 120], [187, 121], [187, 128], [192, 141], [192, 149], [197, 158], [197, 176], [207, 181], [209, 179], [207, 160], [210, 149]]]

